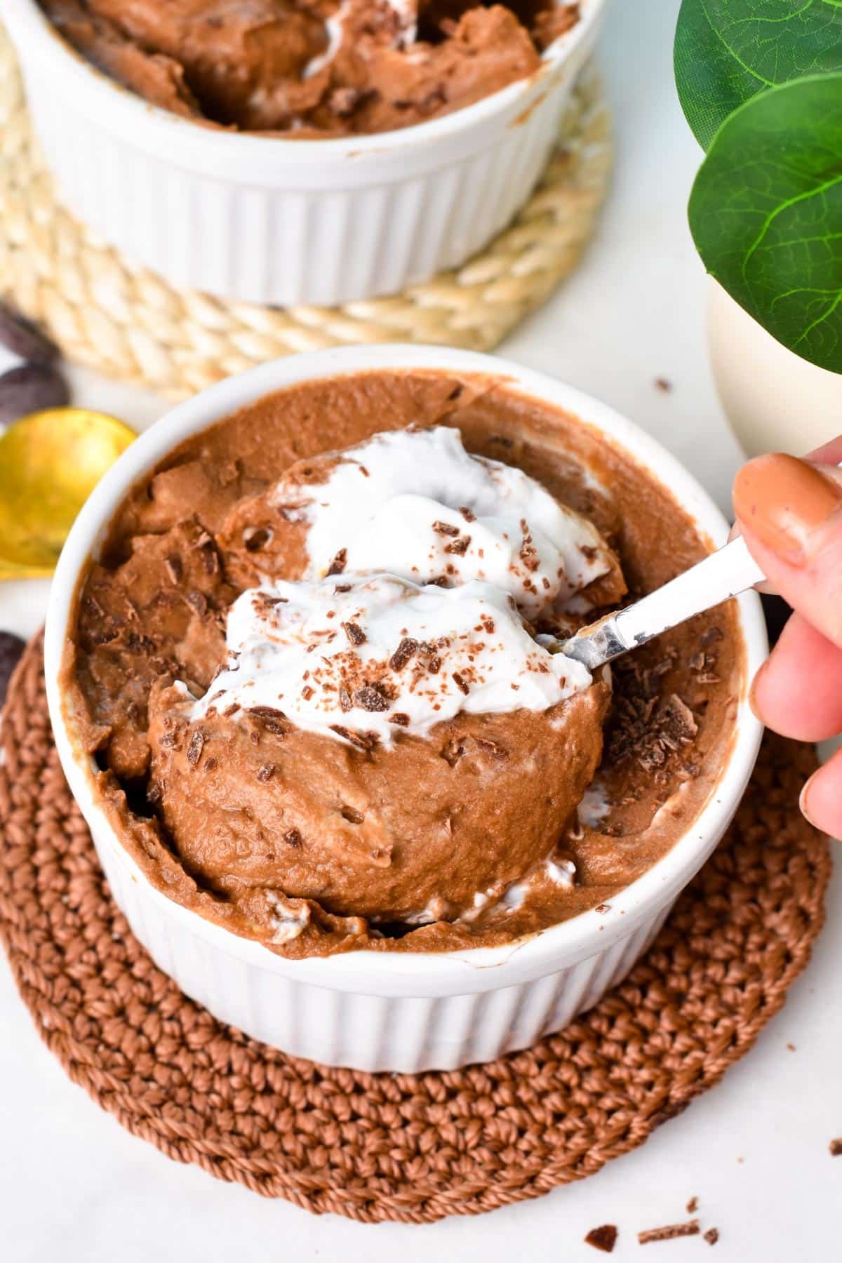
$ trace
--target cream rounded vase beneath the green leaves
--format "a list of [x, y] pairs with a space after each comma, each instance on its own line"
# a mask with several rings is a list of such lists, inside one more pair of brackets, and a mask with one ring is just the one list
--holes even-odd
[[747, 456], [803, 456], [842, 434], [842, 374], [788, 351], [715, 280], [708, 344], [722, 407]]

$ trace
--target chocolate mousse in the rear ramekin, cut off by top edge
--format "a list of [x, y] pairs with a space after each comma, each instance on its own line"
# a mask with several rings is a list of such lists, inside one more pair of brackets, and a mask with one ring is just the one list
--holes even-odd
[[341, 136], [449, 114], [535, 73], [564, 0], [40, 0], [153, 105], [244, 131]]

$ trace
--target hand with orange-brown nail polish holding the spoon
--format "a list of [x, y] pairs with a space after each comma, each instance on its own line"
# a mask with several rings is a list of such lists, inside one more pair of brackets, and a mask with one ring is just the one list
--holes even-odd
[[[751, 687], [751, 703], [784, 736], [842, 733], [842, 437], [805, 460], [759, 456], [737, 474], [733, 510], [749, 551], [795, 611]], [[818, 829], [842, 836], [842, 749], [802, 791]]]

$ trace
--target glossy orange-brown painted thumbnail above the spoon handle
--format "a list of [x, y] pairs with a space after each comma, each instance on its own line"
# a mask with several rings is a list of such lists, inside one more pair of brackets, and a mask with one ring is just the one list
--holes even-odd
[[733, 512], [766, 548], [798, 563], [810, 537], [842, 504], [842, 488], [815, 465], [773, 452], [744, 465]]

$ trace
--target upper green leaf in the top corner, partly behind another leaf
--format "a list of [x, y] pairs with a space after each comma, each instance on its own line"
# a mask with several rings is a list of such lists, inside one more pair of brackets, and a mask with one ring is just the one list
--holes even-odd
[[842, 71], [842, 0], [683, 0], [674, 64], [682, 109], [707, 149], [759, 92]]

